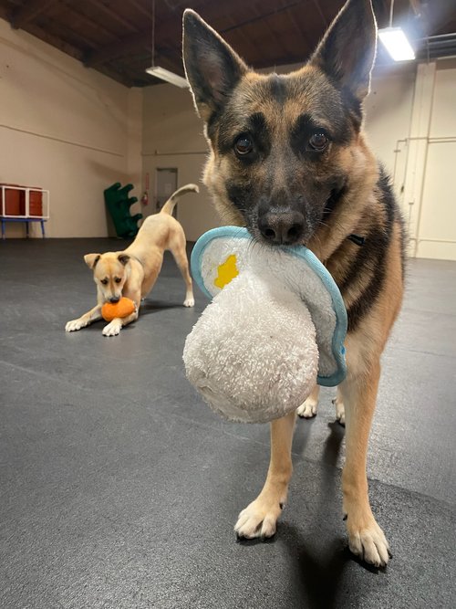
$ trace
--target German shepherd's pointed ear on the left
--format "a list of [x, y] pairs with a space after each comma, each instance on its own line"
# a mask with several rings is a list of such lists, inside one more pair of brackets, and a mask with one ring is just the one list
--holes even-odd
[[223, 108], [243, 74], [244, 61], [236, 55], [201, 16], [187, 8], [183, 13], [183, 66], [196, 110], [203, 121]]

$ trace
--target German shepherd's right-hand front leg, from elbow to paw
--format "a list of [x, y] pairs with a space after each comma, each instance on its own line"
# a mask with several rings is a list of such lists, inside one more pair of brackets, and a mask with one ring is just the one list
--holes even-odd
[[389, 562], [389, 543], [368, 500], [368, 435], [374, 415], [379, 361], [361, 374], [349, 374], [340, 385], [346, 415], [346, 464], [342, 473], [343, 509], [350, 550], [377, 567]]

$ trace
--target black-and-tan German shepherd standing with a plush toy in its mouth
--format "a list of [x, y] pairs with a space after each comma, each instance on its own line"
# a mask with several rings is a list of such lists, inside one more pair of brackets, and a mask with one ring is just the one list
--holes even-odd
[[[383, 566], [389, 543], [369, 505], [367, 448], [380, 354], [403, 290], [404, 231], [389, 180], [365, 141], [362, 103], [376, 54], [370, 0], [348, 0], [303, 68], [257, 74], [200, 16], [183, 18], [183, 58], [209, 142], [204, 184], [223, 220], [269, 244], [306, 244], [347, 307], [342, 474], [349, 547]], [[363, 244], [364, 245], [361, 245]], [[318, 391], [299, 414], [316, 414]], [[240, 538], [275, 534], [292, 474], [295, 414], [271, 424], [264, 488], [239, 515]]]

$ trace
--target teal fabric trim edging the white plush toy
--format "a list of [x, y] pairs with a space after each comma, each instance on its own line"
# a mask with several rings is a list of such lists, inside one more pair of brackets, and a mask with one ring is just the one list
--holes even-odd
[[[195, 281], [197, 282], [199, 288], [202, 292], [207, 296], [208, 299], [212, 299], [220, 289], [216, 289], [209, 281], [205, 281], [202, 272], [202, 265], [205, 253], [208, 251], [208, 247], [213, 244], [213, 242], [223, 239], [228, 242], [228, 240], [234, 240], [233, 244], [236, 245], [237, 253], [244, 255], [246, 258], [246, 264], [249, 264], [250, 261], [250, 253], [252, 251], [252, 247], [254, 246], [254, 241], [252, 236], [249, 234], [246, 228], [241, 228], [238, 226], [221, 226], [219, 228], [214, 228], [207, 233], [204, 233], [192, 250], [191, 257], [191, 266], [192, 266], [192, 275]], [[245, 242], [245, 248], [239, 248], [242, 246], [242, 242]], [[229, 242], [228, 242], [229, 243]], [[316, 377], [316, 382], [319, 385], [323, 386], [335, 386], [341, 383], [347, 374], [347, 365], [345, 360], [345, 347], [344, 341], [347, 335], [347, 310], [340, 294], [339, 289], [337, 288], [337, 284], [327, 271], [327, 269], [323, 266], [323, 264], [318, 260], [318, 258], [305, 246], [293, 246], [293, 247], [267, 247], [264, 246], [264, 252], [267, 252], [267, 255], [270, 256], [271, 253], [281, 252], [287, 256], [293, 257], [302, 261], [306, 264], [306, 267], [312, 271], [312, 273], [319, 278], [323, 289], [329, 294], [331, 299], [332, 309], [334, 310], [334, 314], [336, 316], [336, 323], [334, 329], [332, 330], [332, 341], [331, 348], [332, 353], [328, 354], [328, 356], [332, 355], [332, 358], [335, 362], [335, 371], [330, 374], [321, 373], [320, 368], [318, 369], [318, 374]], [[250, 248], [250, 252], [249, 252]], [[229, 250], [227, 246], [225, 249]], [[261, 256], [257, 257], [261, 259]], [[219, 264], [223, 263], [223, 259], [220, 259]], [[286, 265], [286, 263], [285, 263]], [[241, 261], [242, 267], [242, 261]], [[284, 266], [285, 268], [285, 266]], [[242, 268], [239, 272], [242, 272]], [[316, 324], [316, 319], [314, 319], [314, 315], [312, 315], [312, 301], [314, 298], [313, 294], [305, 294], [302, 295], [303, 305], [308, 306], [312, 319], [316, 325], [316, 330], [318, 332], [318, 326]], [[315, 310], [316, 311], [316, 310]], [[315, 312], [314, 311], [314, 312]], [[319, 330], [324, 333], [325, 329], [321, 327]], [[318, 348], [321, 349], [321, 344], [318, 343]]]

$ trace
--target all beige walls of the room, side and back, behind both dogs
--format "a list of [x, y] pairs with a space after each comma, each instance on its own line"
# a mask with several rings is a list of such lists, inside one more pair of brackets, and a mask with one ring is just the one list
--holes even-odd
[[[0, 182], [47, 188], [48, 236], [106, 236], [103, 189], [132, 182], [140, 197], [150, 174], [175, 167], [178, 184], [200, 195], [179, 205], [190, 240], [218, 226], [201, 184], [206, 142], [188, 90], [127, 89], [0, 19]], [[456, 61], [374, 72], [366, 103], [368, 140], [393, 177], [407, 218], [410, 255], [456, 259]], [[22, 226], [8, 226], [22, 236]], [[38, 231], [35, 229], [37, 235]]]

